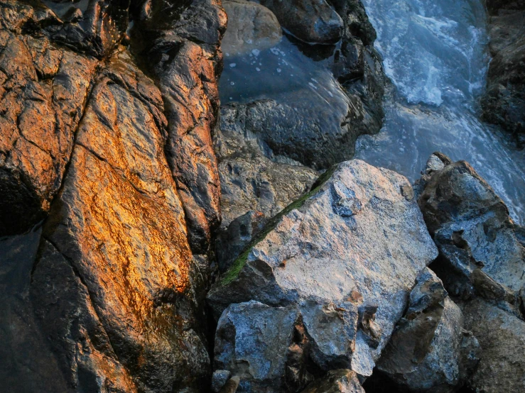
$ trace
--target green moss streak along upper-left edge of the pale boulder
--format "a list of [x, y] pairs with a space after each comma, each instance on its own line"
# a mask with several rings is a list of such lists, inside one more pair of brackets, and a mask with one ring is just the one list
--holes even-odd
[[320, 187], [325, 184], [325, 182], [332, 177], [332, 174], [337, 169], [337, 165], [332, 165], [332, 167], [328, 168], [328, 170], [323, 173], [323, 175], [320, 175], [320, 177], [315, 181], [315, 183], [312, 186], [312, 189], [310, 189], [309, 192], [301, 196], [301, 198], [297, 199], [296, 201], [293, 201], [291, 204], [286, 206], [283, 210], [281, 210], [280, 213], [278, 213], [276, 216], [271, 218], [271, 220], [266, 224], [264, 229], [257, 234], [256, 237], [251, 239], [250, 243], [247, 245], [247, 248], [244, 249], [244, 251], [237, 257], [236, 260], [234, 260], [232, 266], [227, 270], [227, 272], [224, 273], [218, 284], [222, 287], [230, 284], [234, 281], [237, 277], [239, 277], [239, 273], [241, 272], [244, 265], [246, 265], [246, 262], [248, 260], [248, 255], [252, 248], [255, 247], [257, 243], [259, 243], [261, 240], [266, 238], [268, 234], [274, 230], [274, 228], [277, 226], [279, 221], [281, 221], [281, 218], [283, 216], [286, 216], [286, 214], [290, 213], [293, 209], [299, 209], [303, 204], [305, 204], [305, 201], [307, 199], [310, 199], [314, 194], [316, 194]]

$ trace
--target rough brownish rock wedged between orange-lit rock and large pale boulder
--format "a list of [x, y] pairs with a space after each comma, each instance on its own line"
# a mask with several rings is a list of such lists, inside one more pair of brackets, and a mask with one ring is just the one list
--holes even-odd
[[235, 107], [221, 109], [220, 128], [215, 137], [222, 209], [217, 259], [226, 270], [269, 218], [310, 189], [318, 172], [276, 157]]

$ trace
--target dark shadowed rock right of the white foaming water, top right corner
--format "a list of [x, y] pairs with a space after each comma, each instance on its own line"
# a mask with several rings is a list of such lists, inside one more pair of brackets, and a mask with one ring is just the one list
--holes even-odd
[[499, 124], [525, 146], [525, 1], [487, 0], [492, 61], [483, 118]]

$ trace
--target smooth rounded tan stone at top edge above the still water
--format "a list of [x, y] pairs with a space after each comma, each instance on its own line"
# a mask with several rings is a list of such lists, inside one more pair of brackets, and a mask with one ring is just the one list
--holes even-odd
[[224, 52], [242, 55], [281, 42], [281, 25], [266, 7], [245, 0], [223, 1], [222, 6], [228, 14], [228, 28], [221, 43]]

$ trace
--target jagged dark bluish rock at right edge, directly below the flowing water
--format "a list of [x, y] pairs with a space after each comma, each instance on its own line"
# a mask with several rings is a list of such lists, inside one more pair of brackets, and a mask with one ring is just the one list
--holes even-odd
[[427, 170], [418, 197], [440, 250], [433, 270], [455, 296], [467, 298], [478, 292], [516, 303], [525, 284], [519, 227], [509, 218], [504, 202], [467, 162], [452, 163], [447, 157], [442, 162], [443, 167]]

